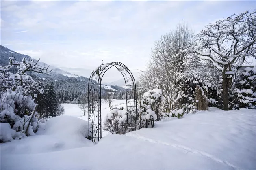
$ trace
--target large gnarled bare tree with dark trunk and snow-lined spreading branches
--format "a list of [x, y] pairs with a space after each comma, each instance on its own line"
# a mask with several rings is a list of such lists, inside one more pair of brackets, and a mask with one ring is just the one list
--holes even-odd
[[256, 11], [231, 15], [208, 24], [195, 36], [189, 51], [195, 60], [208, 60], [222, 75], [223, 105], [228, 110], [227, 71], [235, 71], [247, 57], [256, 57]]

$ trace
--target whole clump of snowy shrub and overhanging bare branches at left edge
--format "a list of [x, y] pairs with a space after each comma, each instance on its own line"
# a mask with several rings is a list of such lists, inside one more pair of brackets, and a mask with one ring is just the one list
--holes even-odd
[[[13, 66], [19, 69], [16, 74], [8, 72]], [[26, 58], [18, 62], [9, 57], [9, 65], [0, 66], [0, 123], [8, 123], [15, 130], [15, 134], [11, 134], [13, 139], [34, 135], [38, 126], [35, 118], [37, 104], [34, 100], [38, 96], [37, 92], [43, 93], [43, 89], [40, 83], [27, 74], [28, 71], [49, 73], [48, 68], [38, 66], [33, 60]], [[11, 133], [7, 130], [9, 132]], [[2, 140], [5, 141], [7, 140]]]

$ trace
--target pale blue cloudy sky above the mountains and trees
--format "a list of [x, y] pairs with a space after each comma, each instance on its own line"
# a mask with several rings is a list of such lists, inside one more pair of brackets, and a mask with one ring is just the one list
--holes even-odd
[[[256, 1], [1, 0], [0, 44], [72, 74], [89, 77], [119, 61], [138, 77], [161, 35], [181, 21], [195, 33], [256, 8]], [[121, 79], [114, 69], [104, 81]]]

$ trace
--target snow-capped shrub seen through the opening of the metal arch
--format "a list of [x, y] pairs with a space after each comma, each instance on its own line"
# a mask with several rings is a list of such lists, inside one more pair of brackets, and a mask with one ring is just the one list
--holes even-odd
[[126, 134], [128, 130], [126, 110], [110, 110], [104, 120], [104, 130], [112, 134]]

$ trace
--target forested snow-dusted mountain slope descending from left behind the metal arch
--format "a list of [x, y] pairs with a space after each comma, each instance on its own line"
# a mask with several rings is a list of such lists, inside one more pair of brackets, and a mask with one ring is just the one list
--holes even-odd
[[[17, 61], [22, 61], [23, 58], [27, 60], [32, 59], [28, 55], [20, 54], [12, 51], [2, 45], [0, 45], [0, 65], [6, 66], [9, 64], [9, 57], [14, 57]], [[35, 60], [38, 65], [48, 67], [48, 64]], [[49, 66], [52, 72], [50, 75], [31, 73], [35, 80], [42, 81], [43, 83], [51, 83], [54, 86], [54, 90], [58, 96], [58, 100], [63, 102], [81, 98], [87, 91], [89, 79], [87, 77], [71, 74], [70, 72], [61, 70], [54, 66]], [[17, 68], [13, 67], [12, 72], [17, 72]], [[122, 96], [125, 89], [121, 87], [111, 87], [109, 85], [102, 84], [102, 95], [107, 92], [113, 92], [117, 96]]]

